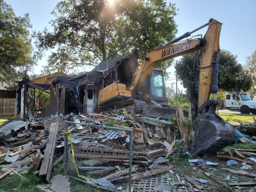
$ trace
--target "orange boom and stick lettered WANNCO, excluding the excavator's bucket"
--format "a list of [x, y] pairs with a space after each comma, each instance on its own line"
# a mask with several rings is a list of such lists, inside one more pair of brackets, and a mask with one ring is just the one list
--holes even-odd
[[[142, 99], [145, 94], [146, 87], [143, 87], [144, 82], [147, 82], [147, 78], [149, 74], [152, 72], [154, 67], [163, 61], [185, 55], [194, 51], [197, 51], [203, 48], [201, 57], [200, 57], [200, 72], [199, 72], [199, 82], [195, 86], [195, 91], [199, 95], [197, 100], [197, 106], [202, 106], [207, 100], [209, 100], [209, 95], [212, 88], [213, 83], [213, 69], [214, 66], [212, 65], [214, 55], [218, 54], [219, 47], [219, 38], [220, 38], [220, 30], [222, 23], [218, 22], [217, 20], [210, 19], [209, 23], [203, 25], [202, 27], [192, 31], [187, 32], [183, 36], [178, 37], [176, 40], [181, 40], [182, 37], [188, 37], [191, 33], [205, 27], [208, 25], [208, 30], [205, 33], [203, 40], [205, 42], [204, 46], [202, 46], [202, 41], [199, 38], [196, 39], [187, 39], [184, 41], [171, 41], [161, 47], [157, 47], [151, 50], [141, 61], [141, 66], [138, 68], [136, 72], [136, 77], [132, 85], [129, 88], [129, 91], [133, 94], [135, 98]], [[174, 43], [172, 43], [174, 42]], [[186, 83], [185, 83], [186, 84]], [[187, 88], [187, 87], [186, 87]], [[195, 102], [194, 90], [191, 90], [191, 95], [193, 95], [193, 102]], [[216, 90], [216, 86], [214, 86], [214, 94], [216, 94], [218, 88]], [[206, 112], [204, 108], [200, 113], [196, 113], [196, 107], [194, 109], [194, 117], [200, 116]]]

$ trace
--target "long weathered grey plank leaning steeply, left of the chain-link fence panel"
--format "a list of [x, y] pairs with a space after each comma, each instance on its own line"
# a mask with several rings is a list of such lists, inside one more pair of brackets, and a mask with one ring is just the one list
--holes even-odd
[[48, 142], [46, 144], [44, 159], [40, 168], [39, 176], [47, 176], [46, 180], [50, 181], [52, 165], [53, 165], [53, 155], [55, 152], [55, 145], [58, 133], [58, 122], [52, 123], [50, 127]]

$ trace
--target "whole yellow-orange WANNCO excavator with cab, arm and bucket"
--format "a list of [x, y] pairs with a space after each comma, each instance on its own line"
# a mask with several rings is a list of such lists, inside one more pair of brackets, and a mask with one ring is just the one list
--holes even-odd
[[[218, 92], [218, 61], [219, 37], [222, 23], [210, 19], [205, 25], [163, 44], [160, 47], [148, 50], [141, 61], [140, 67], [133, 75], [131, 86], [114, 82], [99, 93], [98, 105], [101, 110], [109, 107], [113, 109], [132, 109], [142, 114], [147, 110], [170, 110], [159, 104], [164, 98], [164, 81], [161, 71], [154, 67], [163, 61], [196, 51], [194, 69], [198, 69], [198, 81], [184, 80], [188, 99], [191, 102], [191, 114], [195, 120], [195, 135], [191, 152], [198, 155], [214, 154], [234, 141], [235, 130], [232, 125], [215, 114], [219, 101]], [[196, 35], [189, 39], [192, 33], [208, 26], [204, 37]], [[198, 60], [200, 59], [200, 62]], [[210, 93], [213, 99], [209, 100]], [[153, 98], [158, 98], [158, 103]], [[151, 100], [155, 105], [149, 105]], [[163, 102], [163, 101], [162, 101]], [[130, 107], [130, 108], [129, 108]]]

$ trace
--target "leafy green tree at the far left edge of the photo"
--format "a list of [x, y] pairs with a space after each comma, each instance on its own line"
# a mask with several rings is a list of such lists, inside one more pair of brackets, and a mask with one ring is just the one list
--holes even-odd
[[22, 71], [29, 69], [34, 60], [28, 28], [29, 14], [16, 17], [10, 5], [0, 0], [0, 79], [18, 80]]

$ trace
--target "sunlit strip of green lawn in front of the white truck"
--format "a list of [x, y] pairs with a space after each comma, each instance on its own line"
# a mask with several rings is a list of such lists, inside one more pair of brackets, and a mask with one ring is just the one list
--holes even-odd
[[[253, 117], [256, 115], [249, 115], [249, 114], [234, 114], [234, 113], [219, 113], [219, 116], [222, 117], [224, 120], [230, 119], [229, 123], [253, 123]], [[238, 123], [239, 124], [239, 123]]]

